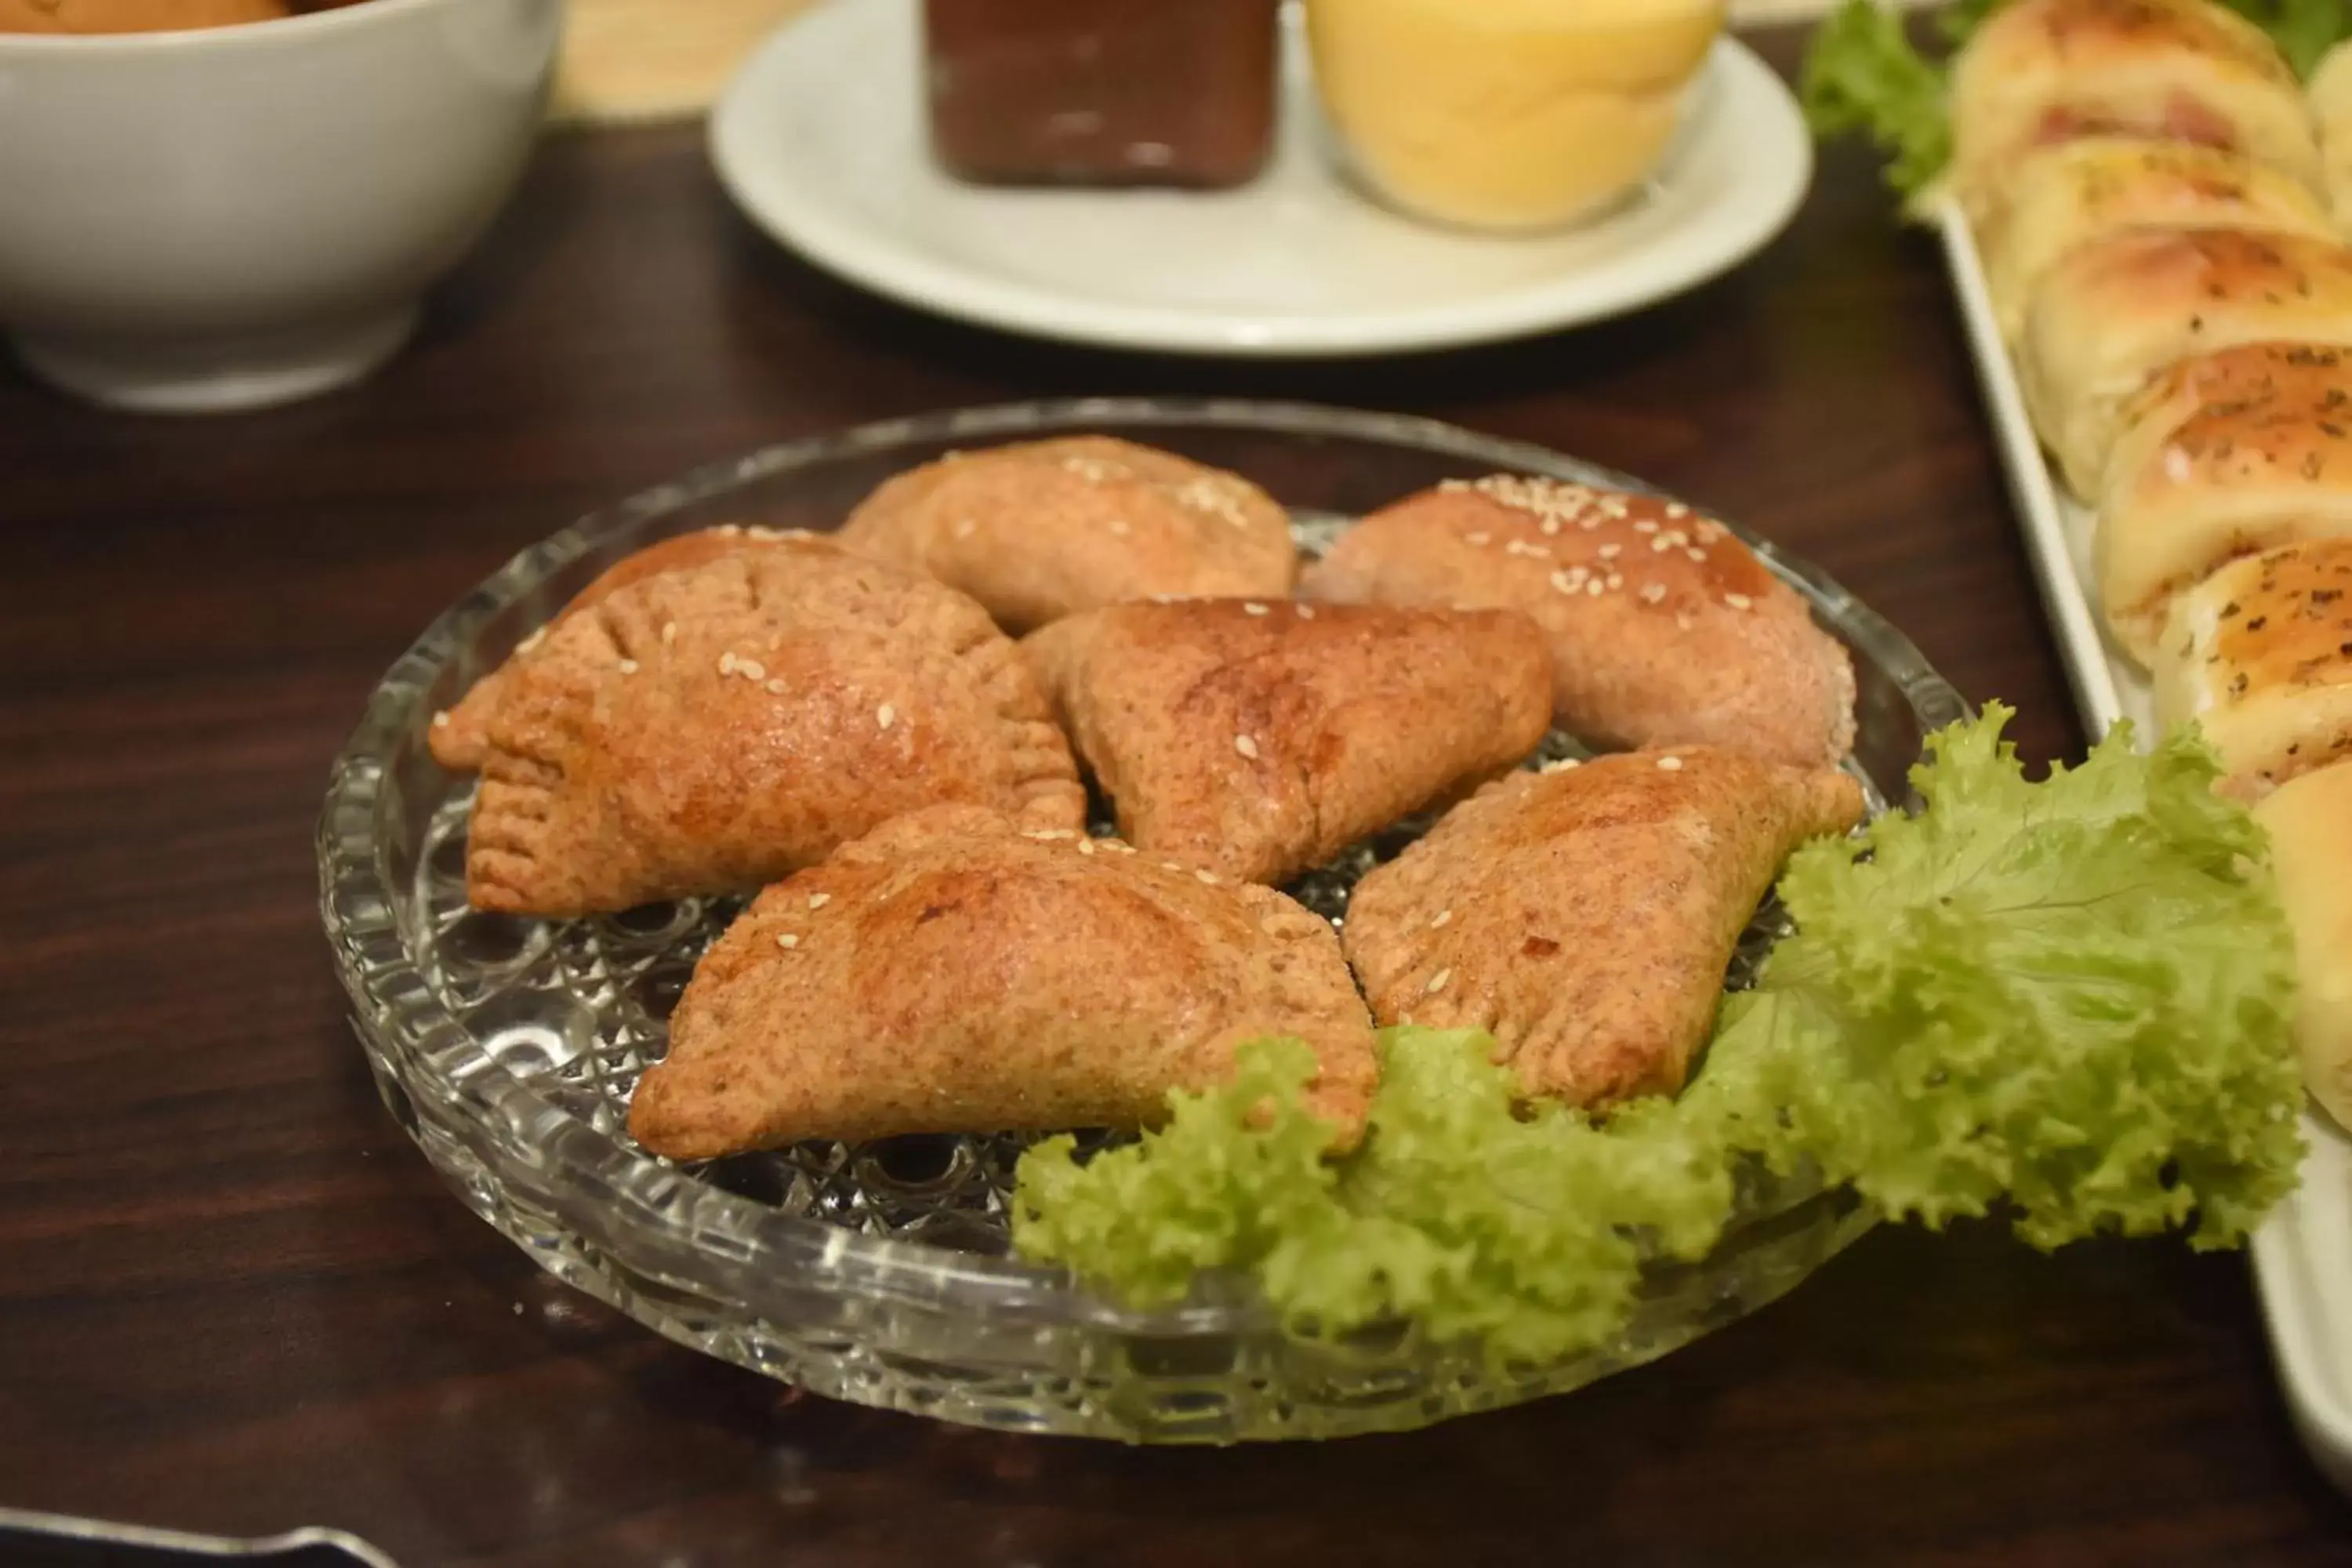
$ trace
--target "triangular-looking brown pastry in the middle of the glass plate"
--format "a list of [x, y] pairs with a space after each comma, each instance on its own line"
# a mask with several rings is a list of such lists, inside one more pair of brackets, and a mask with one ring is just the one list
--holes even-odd
[[1115, 604], [1021, 651], [1120, 835], [1242, 882], [1494, 778], [1552, 717], [1543, 632], [1515, 611]]

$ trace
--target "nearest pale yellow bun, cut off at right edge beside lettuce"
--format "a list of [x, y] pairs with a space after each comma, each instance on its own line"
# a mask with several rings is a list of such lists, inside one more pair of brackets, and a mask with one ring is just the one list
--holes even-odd
[[2352, 764], [2303, 773], [2253, 809], [2296, 933], [2303, 1081], [2352, 1128]]

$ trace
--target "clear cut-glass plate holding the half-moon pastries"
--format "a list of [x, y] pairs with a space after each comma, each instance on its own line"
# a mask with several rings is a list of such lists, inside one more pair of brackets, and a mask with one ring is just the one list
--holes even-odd
[[[334, 764], [320, 820], [327, 938], [393, 1117], [459, 1197], [541, 1267], [713, 1356], [835, 1399], [955, 1422], [1127, 1441], [1395, 1432], [1581, 1387], [1663, 1356], [1804, 1279], [1875, 1220], [1846, 1190], [1743, 1171], [1738, 1213], [1698, 1265], [1649, 1269], [1606, 1347], [1486, 1368], [1409, 1328], [1287, 1338], [1240, 1279], [1131, 1312], [1007, 1255], [1025, 1138], [797, 1145], [708, 1166], [640, 1152], [628, 1093], [741, 900], [609, 919], [477, 914], [463, 898], [473, 783], [426, 726], [607, 564], [717, 522], [833, 529], [875, 484], [957, 447], [1120, 433], [1242, 473], [1294, 508], [1305, 548], [1348, 517], [1498, 470], [1649, 489], [1451, 425], [1296, 404], [1087, 400], [938, 414], [788, 442], [694, 473], [534, 545], [454, 604], [383, 677]], [[1748, 538], [1743, 534], [1743, 538]], [[1962, 698], [1891, 625], [1811, 567], [1748, 538], [1853, 649], [1851, 769], [1877, 809], [1907, 802], [1924, 736]], [[1555, 736], [1550, 748], [1571, 748]], [[1310, 872], [1294, 893], [1345, 912], [1355, 875], [1409, 839]], [[1731, 985], [1778, 931], [1766, 910]]]

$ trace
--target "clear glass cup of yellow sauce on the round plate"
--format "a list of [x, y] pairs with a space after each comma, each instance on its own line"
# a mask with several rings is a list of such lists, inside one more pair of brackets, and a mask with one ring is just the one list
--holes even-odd
[[1308, 0], [1352, 174], [1416, 219], [1548, 230], [1658, 172], [1726, 0]]

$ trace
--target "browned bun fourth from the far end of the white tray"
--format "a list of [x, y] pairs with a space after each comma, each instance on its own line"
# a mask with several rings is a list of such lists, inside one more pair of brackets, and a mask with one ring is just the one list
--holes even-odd
[[[2093, 559], [2107, 625], [2140, 663], [2176, 665], [2190, 628], [2201, 642], [2218, 630], [2213, 611], [2244, 599], [2239, 578], [2218, 597], [2192, 595], [2159, 656], [2176, 595], [2223, 562], [2352, 534], [2352, 353], [2249, 343], [2183, 360], [2126, 418]], [[2272, 635], [2286, 623], [2274, 616]]]

